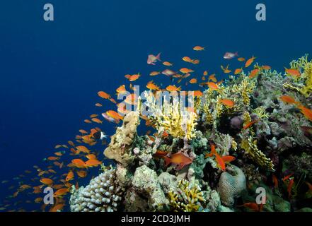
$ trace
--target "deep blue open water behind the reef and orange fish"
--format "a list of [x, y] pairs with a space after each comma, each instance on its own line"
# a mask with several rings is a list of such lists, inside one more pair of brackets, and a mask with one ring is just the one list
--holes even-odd
[[[54, 5], [54, 21], [42, 18], [47, 3]], [[266, 4], [267, 21], [255, 20], [258, 3]], [[73, 139], [83, 119], [96, 113], [98, 90], [114, 94], [127, 73], [140, 72], [141, 84], [151, 80], [148, 54], [162, 52], [177, 67], [182, 57], [196, 57], [201, 69], [218, 74], [221, 64], [235, 67], [222, 58], [225, 52], [255, 55], [279, 71], [312, 53], [309, 0], [10, 0], [0, 5], [0, 181], [32, 169], [54, 145]], [[195, 54], [195, 45], [206, 51]], [[105, 126], [106, 121], [101, 128], [112, 135], [113, 126]], [[0, 184], [0, 196], [7, 195], [6, 186]]]

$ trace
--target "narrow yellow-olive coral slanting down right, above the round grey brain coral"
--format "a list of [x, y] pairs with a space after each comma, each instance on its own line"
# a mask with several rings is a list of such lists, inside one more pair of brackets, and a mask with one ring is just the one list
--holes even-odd
[[273, 172], [275, 171], [273, 162], [270, 160], [270, 158], [267, 158], [261, 150], [258, 149], [257, 141], [253, 141], [252, 137], [248, 138], [248, 140], [243, 139], [241, 141], [241, 148], [245, 150], [245, 153], [260, 167]]

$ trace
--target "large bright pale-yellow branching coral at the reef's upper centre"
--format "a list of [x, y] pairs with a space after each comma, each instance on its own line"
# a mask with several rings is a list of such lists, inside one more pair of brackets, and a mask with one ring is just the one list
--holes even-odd
[[145, 93], [145, 105], [149, 107], [149, 119], [156, 126], [158, 133], [168, 132], [175, 138], [190, 140], [195, 137], [197, 114], [181, 107], [178, 98], [163, 100], [163, 105], [157, 105], [156, 98], [151, 93]]

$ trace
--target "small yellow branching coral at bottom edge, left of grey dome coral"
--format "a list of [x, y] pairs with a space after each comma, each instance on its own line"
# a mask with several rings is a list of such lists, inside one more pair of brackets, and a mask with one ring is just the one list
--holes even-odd
[[191, 184], [185, 179], [178, 182], [177, 191], [168, 192], [169, 206], [173, 211], [198, 211], [205, 202], [202, 190], [198, 184]]

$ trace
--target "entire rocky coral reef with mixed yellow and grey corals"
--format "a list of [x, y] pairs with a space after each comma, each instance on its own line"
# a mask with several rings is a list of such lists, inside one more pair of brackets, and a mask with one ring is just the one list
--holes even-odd
[[[71, 210], [254, 211], [245, 204], [255, 203], [259, 187], [267, 196], [258, 210], [310, 210], [301, 203], [312, 181], [304, 113], [312, 109], [312, 61], [290, 66], [300, 76], [255, 64], [215, 86], [202, 83], [189, 107], [178, 98], [185, 93], [145, 92], [105, 149], [116, 166], [73, 189]], [[154, 133], [140, 135], [141, 120]]]

